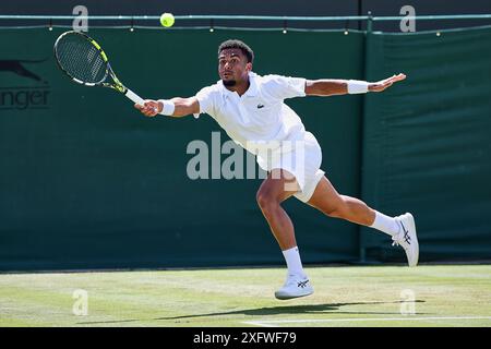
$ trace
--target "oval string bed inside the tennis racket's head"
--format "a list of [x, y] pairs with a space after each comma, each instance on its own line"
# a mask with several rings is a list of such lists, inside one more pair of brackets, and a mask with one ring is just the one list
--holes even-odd
[[84, 83], [99, 83], [106, 77], [106, 61], [99, 50], [84, 38], [64, 37], [57, 46], [61, 67]]

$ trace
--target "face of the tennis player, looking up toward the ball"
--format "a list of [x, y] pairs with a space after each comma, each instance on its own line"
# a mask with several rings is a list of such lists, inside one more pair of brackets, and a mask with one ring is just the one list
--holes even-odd
[[218, 74], [225, 86], [235, 86], [248, 79], [252, 63], [238, 48], [223, 50], [218, 56]]

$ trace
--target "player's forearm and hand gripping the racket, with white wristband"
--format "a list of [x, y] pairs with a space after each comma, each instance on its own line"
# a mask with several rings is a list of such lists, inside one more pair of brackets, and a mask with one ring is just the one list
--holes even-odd
[[139, 109], [145, 117], [149, 118], [161, 113], [163, 111], [165, 111], [164, 108], [168, 108], [168, 106], [170, 106], [171, 104], [173, 104], [173, 110], [171, 110], [171, 113], [165, 113], [169, 117], [180, 118], [200, 112], [200, 103], [197, 101], [196, 97], [176, 97], [166, 100], [165, 103], [166, 106], [164, 106], [163, 100], [146, 99], [143, 106], [134, 105], [134, 107]]

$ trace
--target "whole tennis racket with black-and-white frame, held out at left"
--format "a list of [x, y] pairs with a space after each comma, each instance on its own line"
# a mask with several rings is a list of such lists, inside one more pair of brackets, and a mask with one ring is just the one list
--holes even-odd
[[61, 34], [55, 43], [55, 57], [58, 67], [75, 83], [85, 86], [110, 87], [143, 105], [144, 100], [127, 88], [116, 77], [106, 53], [87, 35], [80, 32]]

